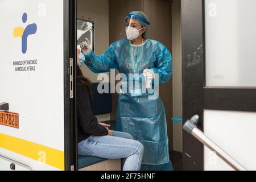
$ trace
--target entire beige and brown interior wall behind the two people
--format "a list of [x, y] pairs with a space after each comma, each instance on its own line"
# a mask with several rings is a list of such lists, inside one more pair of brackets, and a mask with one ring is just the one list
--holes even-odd
[[[182, 129], [174, 126], [172, 129], [172, 116], [182, 115], [182, 84], [181, 84], [181, 36], [180, 36], [180, 0], [78, 0], [77, 17], [92, 20], [95, 23], [95, 52], [102, 54], [109, 44], [125, 38], [120, 35], [122, 22], [127, 13], [133, 10], [144, 11], [150, 18], [149, 37], [162, 42], [172, 52], [173, 57], [173, 86], [172, 80], [161, 86], [160, 96], [164, 102], [167, 113], [168, 135], [170, 148], [182, 151]], [[82, 72], [92, 82], [97, 80], [97, 74], [82, 66]], [[172, 89], [173, 88], [173, 92]], [[173, 98], [173, 103], [172, 103]], [[118, 94], [113, 94], [112, 113], [97, 115], [99, 121], [116, 120]], [[173, 114], [172, 114], [173, 113]]]

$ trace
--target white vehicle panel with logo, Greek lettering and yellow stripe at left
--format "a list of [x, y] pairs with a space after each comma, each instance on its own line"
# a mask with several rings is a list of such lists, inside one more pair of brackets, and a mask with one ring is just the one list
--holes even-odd
[[0, 2], [0, 169], [76, 169], [76, 1]]

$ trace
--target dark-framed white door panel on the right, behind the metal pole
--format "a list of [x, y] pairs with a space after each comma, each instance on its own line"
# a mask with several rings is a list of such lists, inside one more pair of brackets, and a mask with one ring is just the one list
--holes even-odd
[[[249, 170], [256, 169], [254, 0], [181, 0], [183, 118]], [[230, 170], [183, 133], [184, 170]]]

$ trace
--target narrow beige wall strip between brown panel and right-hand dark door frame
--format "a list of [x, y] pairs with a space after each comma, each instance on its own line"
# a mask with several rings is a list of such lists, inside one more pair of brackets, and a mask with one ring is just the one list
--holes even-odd
[[[181, 51], [181, 2], [172, 3], [172, 60], [174, 117], [182, 115], [182, 51]], [[174, 151], [182, 152], [182, 123], [173, 123]]]

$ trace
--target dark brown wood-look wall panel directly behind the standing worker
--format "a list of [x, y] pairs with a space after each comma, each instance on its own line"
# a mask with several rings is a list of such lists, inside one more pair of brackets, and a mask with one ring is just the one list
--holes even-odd
[[[119, 39], [122, 22], [125, 15], [130, 11], [139, 10], [148, 15], [151, 26], [148, 37], [163, 43], [172, 52], [172, 1], [168, 0], [109, 0], [109, 42], [113, 43]], [[160, 97], [164, 102], [167, 117], [167, 130], [170, 139], [170, 150], [172, 150], [172, 80], [160, 87]], [[111, 119], [115, 120], [117, 110], [118, 94], [114, 94]]]

